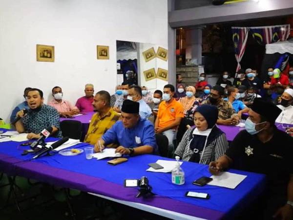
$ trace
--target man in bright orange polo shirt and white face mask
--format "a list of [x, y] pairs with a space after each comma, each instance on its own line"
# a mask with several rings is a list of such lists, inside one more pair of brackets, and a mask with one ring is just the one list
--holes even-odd
[[168, 156], [171, 157], [174, 152], [173, 140], [175, 132], [181, 119], [184, 117], [183, 107], [173, 96], [175, 88], [167, 84], [164, 87], [163, 101], [159, 105], [158, 115], [155, 121], [155, 132], [162, 133], [168, 138]]

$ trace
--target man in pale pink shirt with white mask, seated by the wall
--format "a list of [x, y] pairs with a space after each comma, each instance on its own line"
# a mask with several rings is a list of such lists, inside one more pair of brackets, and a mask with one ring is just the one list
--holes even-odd
[[48, 105], [54, 107], [60, 114], [60, 117], [72, 117], [80, 112], [76, 106], [73, 106], [69, 101], [62, 99], [63, 92], [61, 87], [52, 88], [52, 96], [54, 99], [48, 102]]

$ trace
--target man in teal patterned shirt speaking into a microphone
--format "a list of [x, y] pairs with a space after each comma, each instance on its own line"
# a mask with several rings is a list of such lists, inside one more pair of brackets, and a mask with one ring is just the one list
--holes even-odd
[[28, 139], [40, 138], [40, 132], [50, 126], [53, 128], [51, 136], [62, 137], [58, 111], [51, 106], [44, 105], [43, 101], [42, 90], [31, 88], [27, 93], [29, 110], [27, 113], [20, 110], [16, 114], [20, 120], [15, 123], [15, 128], [19, 133], [28, 133]]

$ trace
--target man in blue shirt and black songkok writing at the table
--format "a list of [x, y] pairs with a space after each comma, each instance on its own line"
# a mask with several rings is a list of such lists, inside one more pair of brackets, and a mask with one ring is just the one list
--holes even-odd
[[[139, 103], [125, 100], [121, 109], [121, 120], [117, 121], [95, 144], [95, 152], [105, 145], [118, 143], [116, 153], [138, 155], [157, 152], [153, 124], [139, 115]], [[100, 144], [101, 146], [100, 146]]]

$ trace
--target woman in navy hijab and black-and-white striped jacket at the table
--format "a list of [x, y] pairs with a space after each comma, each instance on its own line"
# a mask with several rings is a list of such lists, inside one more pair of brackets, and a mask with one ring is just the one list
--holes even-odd
[[217, 107], [199, 106], [194, 112], [195, 127], [185, 132], [175, 155], [185, 161], [209, 164], [225, 154], [228, 141], [226, 134], [215, 125], [217, 119]]

